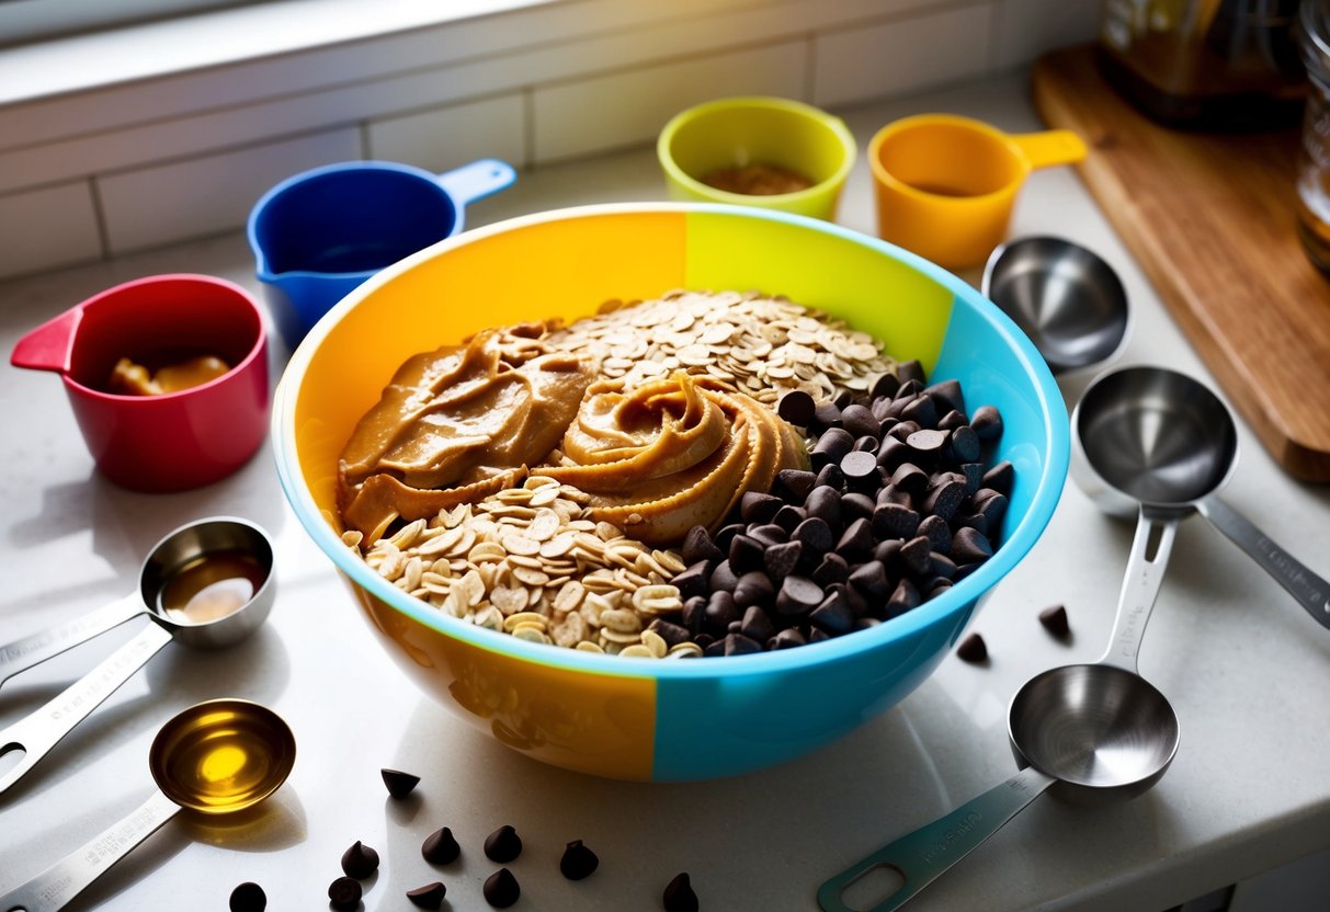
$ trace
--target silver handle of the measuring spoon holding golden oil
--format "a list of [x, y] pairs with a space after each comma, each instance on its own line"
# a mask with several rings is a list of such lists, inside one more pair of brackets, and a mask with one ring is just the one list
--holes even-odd
[[110, 865], [176, 816], [180, 806], [156, 792], [137, 811], [25, 884], [0, 896], [0, 912], [56, 912]]

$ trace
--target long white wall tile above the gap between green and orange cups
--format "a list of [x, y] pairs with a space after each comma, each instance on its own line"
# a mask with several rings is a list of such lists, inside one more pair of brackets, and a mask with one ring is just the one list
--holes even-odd
[[984, 73], [991, 19], [984, 3], [821, 35], [813, 102], [851, 105]]

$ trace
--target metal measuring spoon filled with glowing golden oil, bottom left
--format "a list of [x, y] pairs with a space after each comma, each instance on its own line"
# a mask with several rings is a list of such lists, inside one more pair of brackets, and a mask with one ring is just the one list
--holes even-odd
[[182, 808], [221, 816], [281, 787], [295, 763], [291, 729], [265, 706], [214, 699], [172, 718], [148, 752], [158, 792], [32, 880], [0, 896], [0, 912], [56, 912]]

